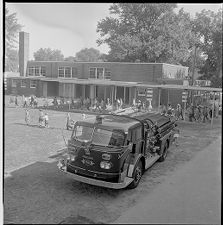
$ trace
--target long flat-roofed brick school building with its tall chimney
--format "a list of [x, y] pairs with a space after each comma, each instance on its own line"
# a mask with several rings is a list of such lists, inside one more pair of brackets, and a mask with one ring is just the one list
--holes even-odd
[[132, 104], [135, 98], [151, 100], [153, 107], [182, 102], [183, 90], [159, 90], [156, 86], [188, 82], [188, 67], [166, 63], [31, 61], [25, 32], [19, 34], [19, 72], [19, 77], [7, 78], [6, 94], [97, 97], [112, 102], [122, 98], [125, 104]]

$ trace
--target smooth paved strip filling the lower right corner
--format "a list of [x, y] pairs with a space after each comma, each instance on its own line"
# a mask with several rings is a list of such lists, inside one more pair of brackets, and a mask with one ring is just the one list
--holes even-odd
[[220, 224], [221, 138], [167, 178], [113, 224]]

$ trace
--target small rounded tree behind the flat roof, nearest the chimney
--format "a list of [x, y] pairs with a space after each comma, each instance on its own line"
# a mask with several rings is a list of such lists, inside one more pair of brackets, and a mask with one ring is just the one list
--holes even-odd
[[64, 56], [58, 49], [40, 48], [33, 55], [35, 61], [64, 61]]

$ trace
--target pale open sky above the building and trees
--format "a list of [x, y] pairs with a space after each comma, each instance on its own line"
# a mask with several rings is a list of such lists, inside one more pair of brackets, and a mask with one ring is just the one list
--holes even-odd
[[[97, 24], [110, 16], [112, 3], [6, 3], [9, 13], [17, 13], [22, 31], [29, 33], [29, 58], [40, 48], [61, 50], [64, 57], [75, 56], [83, 48], [95, 48], [107, 54], [106, 44], [96, 43]], [[193, 17], [196, 12], [214, 12], [222, 4], [177, 4]]]

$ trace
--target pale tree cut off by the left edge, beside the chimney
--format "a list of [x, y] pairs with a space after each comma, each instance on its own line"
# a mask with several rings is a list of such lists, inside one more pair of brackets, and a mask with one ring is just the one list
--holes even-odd
[[18, 33], [22, 25], [18, 23], [16, 13], [9, 14], [5, 9], [5, 68], [4, 71], [17, 71], [18, 69]]

